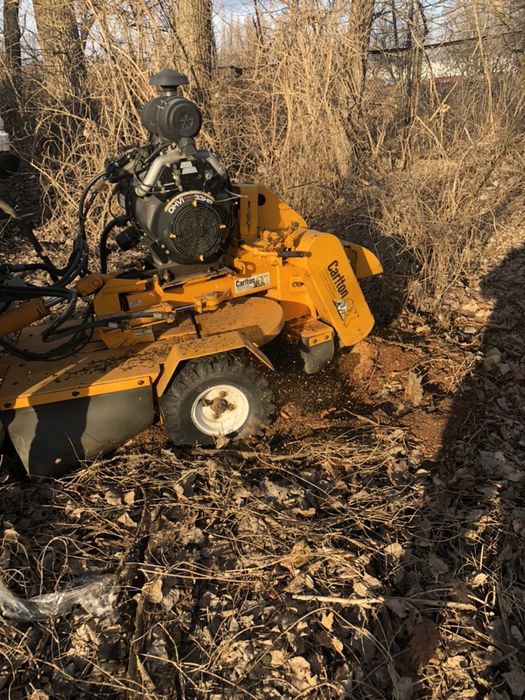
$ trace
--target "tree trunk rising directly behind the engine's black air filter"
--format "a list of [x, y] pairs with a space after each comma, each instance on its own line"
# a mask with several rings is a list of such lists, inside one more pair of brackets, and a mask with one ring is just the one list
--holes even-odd
[[177, 70], [205, 98], [216, 61], [212, 0], [174, 0]]

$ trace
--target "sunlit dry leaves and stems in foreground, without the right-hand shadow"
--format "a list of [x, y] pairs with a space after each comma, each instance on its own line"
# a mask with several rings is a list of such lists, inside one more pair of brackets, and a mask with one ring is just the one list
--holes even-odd
[[[312, 444], [291, 459], [127, 456], [32, 489], [37, 503], [23, 506], [30, 530], [16, 518], [16, 533], [4, 536], [11, 586], [25, 579], [32, 592], [53, 590], [78, 562], [120, 567], [122, 592], [109, 619], [78, 612], [51, 637], [27, 639], [23, 627], [5, 625], [11, 691], [36, 673], [38, 687], [55, 693], [77, 678], [87, 697], [139, 687], [146, 697], [179, 688], [181, 697], [333, 698], [345, 687], [367, 697], [367, 685], [389, 683], [396, 651], [381, 617], [395, 616], [396, 606], [402, 617], [417, 611], [417, 595], [396, 599], [394, 613], [314, 600], [376, 596], [387, 580], [370, 571], [388, 571], [390, 583], [399, 577], [421, 489], [398, 468], [406, 446], [389, 432], [375, 435], [375, 450]], [[22, 493], [9, 491], [20, 508]], [[434, 595], [439, 610], [446, 591], [425, 593]], [[133, 618], [132, 599], [143, 619]], [[134, 654], [143, 667], [130, 679]]]

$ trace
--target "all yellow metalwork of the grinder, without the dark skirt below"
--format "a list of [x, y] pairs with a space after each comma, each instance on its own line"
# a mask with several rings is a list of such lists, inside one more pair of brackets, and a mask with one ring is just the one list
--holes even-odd
[[[100, 329], [95, 342], [66, 360], [0, 366], [0, 410], [139, 386], [151, 386], [159, 397], [181, 362], [242, 348], [271, 367], [259, 348], [283, 328], [289, 340], [309, 348], [334, 335], [343, 346], [366, 337], [374, 320], [358, 279], [382, 272], [375, 255], [308, 229], [264, 187], [239, 185], [236, 191], [237, 230], [224, 269], [169, 284], [157, 275], [79, 280], [79, 295], [93, 296], [96, 318], [130, 312], [126, 327]], [[180, 311], [188, 306], [192, 313]], [[148, 317], [137, 318], [140, 312]], [[0, 317], [0, 337], [48, 313], [40, 300], [8, 311]], [[20, 346], [38, 349], [40, 335], [26, 329]]]

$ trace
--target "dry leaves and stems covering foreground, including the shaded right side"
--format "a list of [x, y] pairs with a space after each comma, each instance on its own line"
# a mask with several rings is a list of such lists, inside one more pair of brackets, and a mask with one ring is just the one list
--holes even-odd
[[13, 588], [86, 569], [119, 585], [103, 619], [4, 622], [5, 696], [473, 698], [518, 669], [524, 601], [500, 558], [519, 552], [518, 490], [432, 483], [391, 427], [295, 449], [125, 454], [4, 486]]

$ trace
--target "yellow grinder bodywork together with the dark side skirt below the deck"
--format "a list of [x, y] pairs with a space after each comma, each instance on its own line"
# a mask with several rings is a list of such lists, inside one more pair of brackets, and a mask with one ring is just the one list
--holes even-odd
[[[0, 364], [0, 418], [31, 473], [50, 473], [50, 461], [61, 473], [161, 418], [159, 399], [188, 360], [244, 350], [271, 367], [260, 348], [282, 331], [306, 357], [333, 352], [334, 337], [350, 346], [370, 333], [374, 320], [358, 279], [382, 272], [377, 258], [308, 229], [264, 187], [237, 192], [237, 231], [223, 268], [169, 283], [162, 272], [84, 277], [77, 291], [92, 298], [96, 319], [129, 320], [99, 329], [67, 359]], [[7, 311], [0, 337], [22, 330], [19, 345], [41, 350], [42, 328], [30, 324], [46, 313], [41, 301]]]

